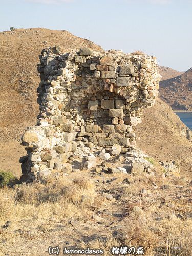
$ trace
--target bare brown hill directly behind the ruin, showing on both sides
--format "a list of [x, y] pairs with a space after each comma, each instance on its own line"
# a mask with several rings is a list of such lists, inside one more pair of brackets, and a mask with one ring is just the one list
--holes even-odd
[[[40, 78], [36, 65], [41, 50], [60, 45], [63, 50], [86, 46], [101, 47], [76, 37], [67, 31], [43, 28], [16, 29], [0, 33], [0, 169], [20, 174], [19, 157], [24, 155], [20, 136], [27, 126], [36, 123], [38, 105], [36, 88]], [[162, 73], [161, 73], [162, 74]], [[162, 91], [162, 89], [161, 89]], [[187, 127], [161, 100], [144, 112], [143, 123], [136, 134], [138, 145], [157, 159], [180, 159], [182, 170], [189, 171], [191, 142], [186, 138]]]

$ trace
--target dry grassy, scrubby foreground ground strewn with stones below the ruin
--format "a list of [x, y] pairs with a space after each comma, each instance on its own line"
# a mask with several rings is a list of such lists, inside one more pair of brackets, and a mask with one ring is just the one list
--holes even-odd
[[[125, 183], [126, 175], [80, 175], [0, 189], [0, 251], [6, 254], [17, 240], [37, 248], [37, 238], [43, 238], [46, 246], [34, 255], [47, 255], [48, 241], [54, 236], [61, 247], [60, 237], [73, 237], [69, 246], [103, 248], [104, 255], [111, 255], [113, 246], [123, 244], [141, 245], [147, 256], [191, 255], [192, 195], [188, 181], [129, 176]], [[161, 189], [163, 185], [168, 188]], [[109, 191], [112, 200], [102, 194]], [[122, 216], [114, 217], [115, 212]], [[93, 215], [105, 221], [94, 221]], [[75, 224], [69, 225], [70, 220]], [[11, 221], [7, 228], [6, 221]], [[33, 233], [28, 223], [35, 223]], [[113, 229], [116, 226], [120, 228]]]

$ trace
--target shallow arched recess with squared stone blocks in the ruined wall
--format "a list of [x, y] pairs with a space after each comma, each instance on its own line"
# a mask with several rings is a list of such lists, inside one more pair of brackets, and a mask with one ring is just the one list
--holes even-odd
[[127, 125], [129, 105], [126, 99], [110, 91], [96, 91], [81, 100], [80, 122], [76, 140], [110, 148], [114, 144], [129, 147], [135, 142], [132, 127]]

